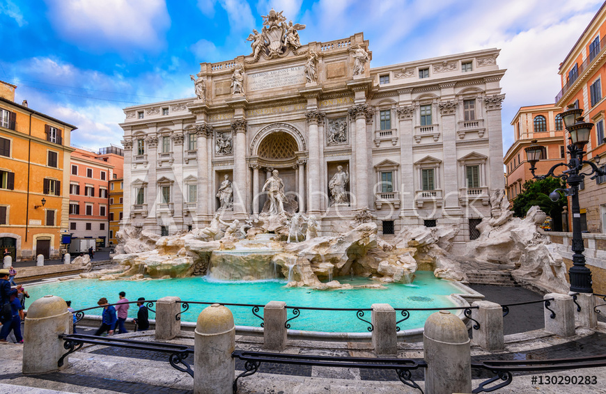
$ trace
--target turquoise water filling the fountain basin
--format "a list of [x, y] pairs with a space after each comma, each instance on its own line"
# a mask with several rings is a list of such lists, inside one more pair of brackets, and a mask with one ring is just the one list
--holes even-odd
[[[338, 278], [341, 283], [363, 285], [375, 283], [366, 278]], [[430, 271], [417, 271], [414, 283], [410, 285], [391, 284], [387, 289], [353, 290], [313, 290], [309, 287], [285, 287], [285, 280], [270, 281], [214, 281], [206, 276], [181, 279], [157, 279], [154, 281], [98, 281], [81, 279], [77, 281], [53, 282], [27, 288], [31, 298], [27, 305], [47, 294], [72, 301], [75, 310], [96, 306], [101, 297], [109, 302], [118, 301], [118, 292], [126, 292], [130, 301], [139, 297], [159, 299], [177, 296], [182, 301], [204, 301], [229, 304], [261, 304], [268, 301], [286, 301], [287, 306], [313, 306], [318, 308], [371, 308], [371, 304], [390, 304], [394, 308], [448, 308], [456, 306], [449, 294], [461, 293], [459, 287], [449, 281], [433, 276]], [[190, 305], [182, 314], [182, 321], [196, 322], [204, 305]], [[154, 307], [155, 308], [155, 307]], [[251, 308], [230, 307], [235, 324], [241, 326], [259, 326], [261, 320], [251, 313]], [[100, 310], [86, 312], [99, 315]], [[422, 327], [426, 318], [433, 312], [413, 311], [410, 318], [400, 324], [400, 328], [414, 329]], [[260, 308], [259, 315], [263, 315]], [[132, 304], [129, 317], [137, 316], [137, 306]], [[288, 317], [293, 317], [288, 310]], [[155, 318], [150, 313], [150, 319]], [[397, 315], [398, 320], [402, 317]], [[366, 312], [364, 319], [370, 321], [371, 313]], [[290, 322], [291, 329], [327, 332], [366, 332], [368, 324], [357, 319], [355, 311], [301, 310], [301, 314]]]

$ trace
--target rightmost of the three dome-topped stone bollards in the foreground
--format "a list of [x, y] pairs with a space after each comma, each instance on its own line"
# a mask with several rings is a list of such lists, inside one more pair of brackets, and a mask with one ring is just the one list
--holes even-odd
[[472, 392], [469, 334], [456, 315], [440, 310], [427, 318], [423, 350], [427, 394]]

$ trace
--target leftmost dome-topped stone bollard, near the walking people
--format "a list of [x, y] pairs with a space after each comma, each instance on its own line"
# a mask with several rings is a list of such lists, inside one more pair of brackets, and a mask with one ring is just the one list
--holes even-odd
[[[24, 374], [41, 374], [59, 370], [57, 362], [67, 352], [59, 334], [70, 328], [68, 305], [61, 297], [45, 296], [27, 308], [23, 336]], [[67, 365], [64, 360], [63, 365]]]

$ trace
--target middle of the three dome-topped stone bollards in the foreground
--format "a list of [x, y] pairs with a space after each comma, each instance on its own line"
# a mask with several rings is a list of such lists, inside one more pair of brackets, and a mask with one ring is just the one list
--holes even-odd
[[235, 326], [231, 310], [204, 308], [194, 331], [194, 394], [231, 394], [235, 379]]

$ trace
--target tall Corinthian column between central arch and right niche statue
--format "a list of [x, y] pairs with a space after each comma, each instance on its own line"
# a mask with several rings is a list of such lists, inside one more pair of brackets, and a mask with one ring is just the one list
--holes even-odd
[[320, 214], [320, 196], [322, 185], [320, 180], [320, 136], [318, 135], [318, 122], [322, 121], [325, 113], [321, 111], [307, 111], [307, 131], [309, 133], [309, 171], [307, 176], [307, 210], [310, 214]]

